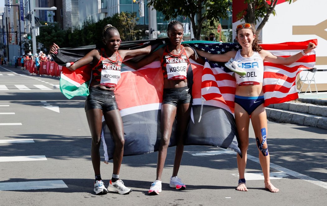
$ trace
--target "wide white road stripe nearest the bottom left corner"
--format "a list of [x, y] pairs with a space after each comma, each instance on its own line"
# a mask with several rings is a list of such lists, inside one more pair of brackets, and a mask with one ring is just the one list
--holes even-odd
[[62, 180], [27, 181], [27, 182], [1, 182], [0, 191], [6, 190], [40, 190], [68, 188]]

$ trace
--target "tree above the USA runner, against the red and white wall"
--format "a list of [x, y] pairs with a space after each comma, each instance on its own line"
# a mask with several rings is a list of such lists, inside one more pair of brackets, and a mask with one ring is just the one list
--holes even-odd
[[[292, 3], [292, 0], [284, 0], [289, 4]], [[243, 2], [243, 0], [242, 0]], [[275, 7], [278, 0], [244, 0], [244, 3], [248, 4], [247, 8], [240, 11], [237, 14], [238, 19], [243, 19], [247, 23], [256, 24], [259, 21], [259, 18], [262, 18], [261, 23], [257, 27], [256, 33], [259, 33], [260, 30], [267, 23], [270, 14], [276, 15]]]

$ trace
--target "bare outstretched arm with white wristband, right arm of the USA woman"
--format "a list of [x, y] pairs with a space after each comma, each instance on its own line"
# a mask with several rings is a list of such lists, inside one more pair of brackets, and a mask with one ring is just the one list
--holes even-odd
[[[308, 47], [306, 49], [303, 50], [305, 56], [310, 53], [312, 51], [312, 49], [316, 48], [317, 46], [314, 43], [309, 43]], [[299, 59], [301, 59], [301, 57], [303, 57], [302, 52], [299, 52], [297, 54], [294, 54], [292, 56], [289, 57], [280, 57], [280, 56], [275, 56], [272, 53], [270, 53], [269, 51], [266, 50], [261, 50], [259, 52], [261, 55], [264, 55], [264, 61], [268, 61], [274, 64], [280, 64], [280, 65], [290, 65], [293, 64], [294, 62], [298, 61]]]

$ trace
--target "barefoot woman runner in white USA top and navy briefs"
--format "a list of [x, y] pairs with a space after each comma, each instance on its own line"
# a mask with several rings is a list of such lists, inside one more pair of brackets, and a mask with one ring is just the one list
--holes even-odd
[[[309, 43], [302, 52], [289, 56], [287, 58], [275, 56], [266, 51], [258, 44], [258, 38], [255, 35], [255, 27], [252, 24], [245, 23], [236, 27], [236, 40], [242, 49], [238, 51], [229, 51], [224, 54], [210, 54], [201, 50], [197, 52], [207, 58], [209, 61], [228, 62], [234, 59], [233, 67], [235, 73], [242, 73], [244, 70], [252, 75], [235, 75], [236, 91], [235, 91], [235, 121], [239, 135], [239, 146], [244, 158], [237, 155], [237, 166], [239, 172], [238, 186], [236, 190], [248, 191], [245, 185], [245, 167], [247, 161], [247, 150], [249, 147], [249, 125], [250, 115], [251, 123], [257, 141], [259, 150], [260, 165], [265, 178], [265, 188], [270, 192], [278, 192], [279, 189], [274, 187], [269, 180], [269, 164], [270, 157], [267, 145], [267, 114], [264, 107], [264, 93], [262, 87], [263, 81], [263, 62], [268, 61], [274, 64], [290, 65], [299, 60], [303, 55], [307, 56], [315, 44]], [[232, 62], [232, 60], [230, 61]], [[229, 63], [230, 63], [229, 62]], [[251, 65], [250, 68], [238, 68], [244, 63]], [[227, 63], [228, 64], [228, 63]], [[236, 68], [235, 68], [236, 67]]]

